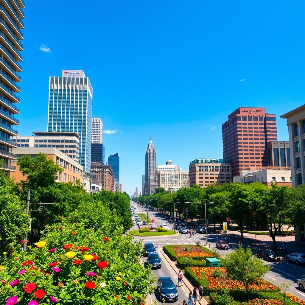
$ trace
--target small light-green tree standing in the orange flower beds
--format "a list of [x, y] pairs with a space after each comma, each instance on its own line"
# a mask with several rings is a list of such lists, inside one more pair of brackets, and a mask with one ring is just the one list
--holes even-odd
[[235, 252], [227, 254], [224, 258], [224, 266], [227, 268], [227, 273], [232, 279], [242, 282], [246, 287], [248, 300], [252, 291], [252, 284], [257, 283], [259, 278], [264, 276], [271, 266], [264, 265], [264, 262], [253, 257], [250, 248], [246, 250], [239, 245]]

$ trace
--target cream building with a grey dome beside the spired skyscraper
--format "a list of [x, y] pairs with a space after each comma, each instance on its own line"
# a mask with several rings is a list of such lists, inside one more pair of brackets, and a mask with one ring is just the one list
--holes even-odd
[[175, 193], [180, 188], [189, 186], [189, 172], [182, 170], [178, 165], [173, 165], [168, 159], [166, 165], [156, 167], [158, 188], [165, 188], [168, 193]]

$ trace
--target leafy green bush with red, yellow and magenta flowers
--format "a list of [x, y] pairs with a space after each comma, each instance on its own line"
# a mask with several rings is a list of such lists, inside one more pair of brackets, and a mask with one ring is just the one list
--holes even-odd
[[100, 233], [63, 220], [28, 252], [11, 244], [0, 264], [0, 304], [143, 303], [153, 278], [138, 263], [141, 244]]

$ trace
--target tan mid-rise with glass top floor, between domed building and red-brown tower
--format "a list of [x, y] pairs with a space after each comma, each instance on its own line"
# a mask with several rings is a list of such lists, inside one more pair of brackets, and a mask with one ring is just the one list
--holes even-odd
[[208, 186], [217, 182], [232, 181], [231, 163], [228, 159], [196, 159], [189, 165], [190, 186]]

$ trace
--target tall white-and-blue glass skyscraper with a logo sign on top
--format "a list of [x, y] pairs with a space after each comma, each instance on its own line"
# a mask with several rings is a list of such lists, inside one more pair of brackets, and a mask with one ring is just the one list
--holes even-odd
[[92, 87], [82, 70], [63, 70], [62, 77], [50, 77], [48, 131], [77, 132], [80, 135], [79, 163], [90, 173]]

